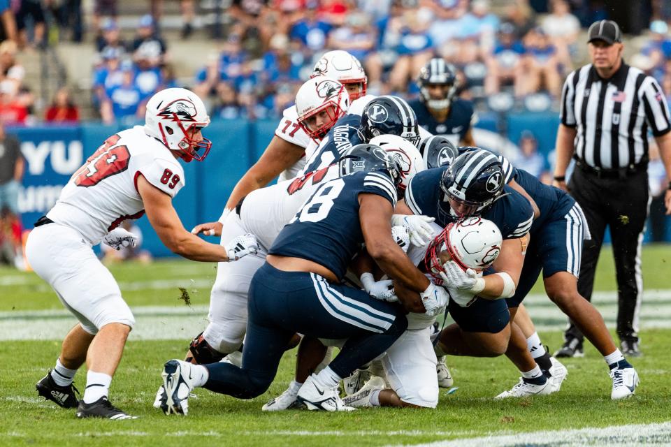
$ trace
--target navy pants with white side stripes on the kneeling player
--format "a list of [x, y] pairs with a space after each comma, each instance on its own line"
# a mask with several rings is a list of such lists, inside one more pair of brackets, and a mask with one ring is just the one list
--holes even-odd
[[205, 365], [205, 388], [250, 399], [266, 392], [289, 339], [298, 332], [347, 339], [331, 369], [347, 377], [387, 351], [407, 328], [401, 306], [370, 298], [356, 288], [331, 284], [314, 273], [283, 272], [265, 263], [252, 278], [243, 365]]

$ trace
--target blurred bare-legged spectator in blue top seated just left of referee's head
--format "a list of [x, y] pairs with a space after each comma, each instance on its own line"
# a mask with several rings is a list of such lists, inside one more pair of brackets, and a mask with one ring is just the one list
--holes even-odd
[[518, 97], [547, 91], [554, 98], [561, 93], [561, 77], [557, 50], [540, 28], [534, 28], [524, 36], [524, 56], [515, 85]]

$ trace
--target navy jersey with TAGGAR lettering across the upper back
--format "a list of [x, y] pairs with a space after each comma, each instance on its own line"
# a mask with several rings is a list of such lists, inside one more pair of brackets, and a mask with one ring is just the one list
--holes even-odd
[[305, 161], [303, 173], [311, 173], [313, 170], [322, 169], [331, 163], [340, 160], [343, 152], [352, 146], [356, 146], [361, 141], [359, 135], [360, 115], [345, 115], [338, 119], [329, 133], [319, 143], [319, 147]]

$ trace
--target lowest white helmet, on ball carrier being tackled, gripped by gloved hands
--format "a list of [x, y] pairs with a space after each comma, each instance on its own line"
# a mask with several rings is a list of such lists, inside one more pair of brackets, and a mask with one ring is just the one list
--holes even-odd
[[496, 223], [482, 217], [468, 217], [450, 223], [426, 249], [424, 263], [431, 275], [440, 279], [442, 265], [454, 261], [463, 270], [488, 268], [501, 251], [503, 237]]

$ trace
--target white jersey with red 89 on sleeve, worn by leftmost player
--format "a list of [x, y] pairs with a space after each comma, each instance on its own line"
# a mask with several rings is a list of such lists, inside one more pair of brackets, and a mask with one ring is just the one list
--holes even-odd
[[136, 183], [140, 174], [171, 197], [185, 185], [184, 169], [173, 152], [143, 126], [135, 126], [112, 135], [89, 156], [47, 217], [99, 244], [122, 221], [145, 213]]

